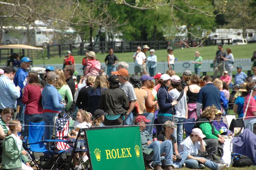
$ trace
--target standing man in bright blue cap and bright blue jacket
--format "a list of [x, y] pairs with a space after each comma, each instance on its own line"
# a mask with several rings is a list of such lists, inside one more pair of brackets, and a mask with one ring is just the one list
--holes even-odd
[[28, 57], [23, 57], [20, 60], [20, 68], [17, 70], [17, 73], [14, 77], [15, 86], [20, 87], [20, 97], [17, 99], [17, 105], [20, 106], [20, 111], [17, 113], [17, 118], [20, 120], [21, 124], [24, 122], [25, 112], [25, 105], [22, 103], [22, 89], [27, 84], [28, 70], [30, 69], [31, 62], [32, 61]]

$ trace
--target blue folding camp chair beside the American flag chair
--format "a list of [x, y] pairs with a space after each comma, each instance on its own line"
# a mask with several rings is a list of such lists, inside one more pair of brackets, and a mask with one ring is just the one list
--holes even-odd
[[[48, 142], [67, 142], [66, 140], [42, 140], [44, 136], [44, 122], [28, 122], [28, 138], [26, 144], [24, 145], [25, 149], [28, 151], [28, 154], [31, 158], [30, 165], [36, 166], [37, 170], [43, 170], [44, 168], [49, 168], [43, 166], [43, 162], [50, 160], [49, 169], [58, 169], [59, 161], [56, 161], [60, 158], [61, 154], [65, 152], [64, 150], [55, 152], [54, 150], [48, 149]], [[43, 153], [44, 156], [38, 156], [39, 159], [36, 159], [35, 153]]]

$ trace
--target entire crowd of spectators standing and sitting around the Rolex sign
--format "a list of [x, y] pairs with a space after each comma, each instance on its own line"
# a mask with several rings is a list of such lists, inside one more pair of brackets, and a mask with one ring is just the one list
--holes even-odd
[[[200, 78], [202, 57], [198, 51], [195, 52], [195, 73], [185, 70], [180, 78], [174, 71], [174, 49], [171, 47], [167, 50], [169, 70], [156, 74], [156, 56], [151, 49], [146, 59], [147, 45], [138, 46], [133, 56], [134, 75], [129, 74], [126, 62], [118, 61], [113, 49], [104, 60], [108, 67], [106, 75], [101, 72], [95, 52], [86, 52], [82, 61], [84, 77], [77, 85], [76, 77], [73, 78], [74, 57], [70, 51], [64, 59], [63, 69], [47, 66], [41, 82], [36, 72], [29, 72], [32, 60], [28, 57], [20, 60], [17, 71], [7, 66], [3, 72], [0, 70], [0, 139], [4, 141], [3, 155], [17, 152], [13, 160], [2, 160], [4, 169], [21, 167], [11, 165], [20, 155], [26, 155], [20, 147], [18, 132], [27, 136], [28, 122], [44, 121], [44, 139], [50, 139], [56, 126], [55, 118], [63, 117], [63, 113], [73, 121], [70, 138], [76, 138], [79, 128], [138, 125], [142, 148], [147, 153], [145, 160], [153, 160], [154, 170], [162, 170], [162, 166], [172, 170], [184, 165], [188, 168], [207, 166], [213, 170], [226, 168], [227, 164], [220, 161], [223, 152], [219, 152], [219, 148], [225, 142], [223, 135], [233, 136], [234, 132], [228, 130], [222, 116], [227, 114], [228, 101], [233, 99], [234, 112], [238, 118], [245, 117], [245, 128], [256, 134], [256, 84], [237, 67], [235, 85], [230, 90], [230, 64], [234, 57], [229, 48], [228, 55], [222, 45], [218, 48], [214, 76], [218, 70], [222, 74], [224, 66], [226, 71], [214, 80], [208, 75]], [[150, 75], [146, 72], [146, 61]], [[253, 68], [256, 75], [255, 70]], [[186, 139], [184, 118], [196, 122]], [[25, 125], [24, 129], [21, 125]], [[79, 143], [78, 147], [86, 145]], [[162, 154], [164, 162], [160, 160]], [[24, 159], [27, 165], [26, 161]]]

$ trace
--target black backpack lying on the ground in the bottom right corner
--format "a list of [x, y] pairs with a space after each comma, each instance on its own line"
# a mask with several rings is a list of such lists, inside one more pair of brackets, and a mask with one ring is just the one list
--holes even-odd
[[232, 156], [232, 166], [234, 167], [251, 166], [254, 164], [254, 161], [248, 156], [237, 154], [237, 153], [231, 154], [231, 156]]

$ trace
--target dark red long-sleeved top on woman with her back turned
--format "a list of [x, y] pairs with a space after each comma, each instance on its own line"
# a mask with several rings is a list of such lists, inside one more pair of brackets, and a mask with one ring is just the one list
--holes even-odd
[[25, 114], [42, 114], [43, 107], [40, 86], [27, 84], [24, 87], [22, 103], [26, 104]]

